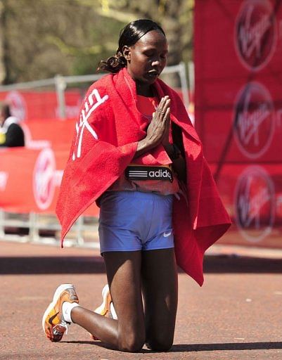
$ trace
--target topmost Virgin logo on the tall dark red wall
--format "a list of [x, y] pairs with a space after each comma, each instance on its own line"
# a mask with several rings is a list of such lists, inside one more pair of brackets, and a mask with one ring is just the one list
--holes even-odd
[[236, 20], [236, 51], [252, 70], [267, 65], [276, 46], [276, 22], [267, 0], [245, 1]]

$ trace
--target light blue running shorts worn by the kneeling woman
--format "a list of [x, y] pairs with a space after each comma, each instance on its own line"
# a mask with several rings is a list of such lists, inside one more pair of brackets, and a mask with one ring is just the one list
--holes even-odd
[[174, 195], [140, 191], [107, 191], [101, 197], [101, 254], [174, 248]]

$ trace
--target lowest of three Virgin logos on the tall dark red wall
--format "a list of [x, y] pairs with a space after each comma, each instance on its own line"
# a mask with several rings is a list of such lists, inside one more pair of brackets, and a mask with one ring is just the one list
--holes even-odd
[[236, 224], [244, 238], [255, 242], [271, 232], [274, 222], [274, 185], [267, 172], [252, 166], [236, 185]]

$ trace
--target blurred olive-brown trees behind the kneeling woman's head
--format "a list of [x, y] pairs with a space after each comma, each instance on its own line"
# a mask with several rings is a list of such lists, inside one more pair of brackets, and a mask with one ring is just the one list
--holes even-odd
[[191, 59], [193, 0], [0, 0], [0, 82], [94, 73], [136, 18], [162, 25], [168, 65]]

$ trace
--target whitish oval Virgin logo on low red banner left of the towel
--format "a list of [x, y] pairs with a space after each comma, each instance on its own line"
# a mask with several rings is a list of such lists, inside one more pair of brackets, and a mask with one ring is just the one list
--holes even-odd
[[46, 210], [52, 203], [55, 191], [56, 161], [50, 148], [42, 150], [34, 165], [33, 193], [37, 206]]

